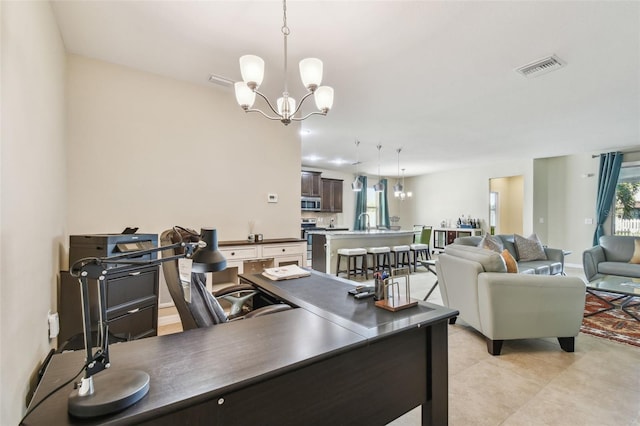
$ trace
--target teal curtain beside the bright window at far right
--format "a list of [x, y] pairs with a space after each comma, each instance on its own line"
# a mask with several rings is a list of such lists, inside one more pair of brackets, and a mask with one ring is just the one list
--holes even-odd
[[622, 165], [621, 152], [600, 154], [600, 171], [598, 173], [598, 194], [596, 197], [597, 226], [593, 234], [593, 245], [597, 246], [604, 235], [604, 222], [611, 213], [613, 199], [616, 196], [618, 176]]

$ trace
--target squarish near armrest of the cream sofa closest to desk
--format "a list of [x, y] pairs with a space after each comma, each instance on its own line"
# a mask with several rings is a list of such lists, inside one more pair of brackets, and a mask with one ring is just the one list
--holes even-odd
[[585, 294], [578, 277], [483, 272], [478, 275], [481, 332], [492, 340], [576, 336]]

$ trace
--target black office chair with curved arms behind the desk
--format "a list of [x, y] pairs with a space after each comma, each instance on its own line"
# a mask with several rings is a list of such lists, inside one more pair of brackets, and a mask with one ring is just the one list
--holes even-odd
[[[185, 230], [187, 231], [186, 233], [184, 232]], [[185, 241], [185, 238], [194, 241], [198, 238], [198, 234], [186, 228], [174, 227], [164, 231], [160, 235], [160, 245], [172, 245], [179, 241]], [[162, 257], [170, 257], [181, 254], [181, 250], [180, 248], [163, 250], [161, 254]], [[204, 273], [191, 274], [190, 300], [187, 301], [180, 279], [178, 261], [171, 260], [162, 263], [162, 272], [164, 273], [164, 279], [173, 303], [178, 310], [178, 315], [180, 315], [180, 321], [182, 322], [182, 329], [184, 331], [192, 328], [209, 327], [227, 322], [231, 319], [253, 318], [291, 309], [289, 305], [274, 304], [245, 313], [245, 303], [258, 293], [253, 286], [246, 284], [232, 285], [212, 294], [207, 290], [207, 279]], [[225, 298], [231, 303], [231, 312], [229, 315], [225, 313], [218, 298]]]

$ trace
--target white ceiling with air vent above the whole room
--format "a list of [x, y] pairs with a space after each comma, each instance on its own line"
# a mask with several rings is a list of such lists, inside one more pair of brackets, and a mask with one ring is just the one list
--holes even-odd
[[[229, 108], [239, 108], [233, 90], [207, 80], [240, 80], [243, 54], [264, 58], [270, 99], [283, 90], [280, 1], [74, 0], [53, 10], [69, 52], [221, 90]], [[356, 139], [360, 171], [377, 174], [381, 144], [391, 176], [400, 147], [412, 176], [640, 145], [640, 2], [290, 0], [287, 16], [292, 96], [303, 94], [297, 63], [309, 56], [335, 89], [329, 115], [302, 122], [306, 166], [354, 170]], [[532, 79], [514, 71], [552, 54], [567, 65]]]

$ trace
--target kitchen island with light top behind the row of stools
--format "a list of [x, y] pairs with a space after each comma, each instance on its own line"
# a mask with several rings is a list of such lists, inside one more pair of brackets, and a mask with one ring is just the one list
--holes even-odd
[[391, 247], [411, 244], [413, 230], [309, 231], [311, 235], [311, 267], [316, 271], [336, 273], [337, 250], [341, 248]]

